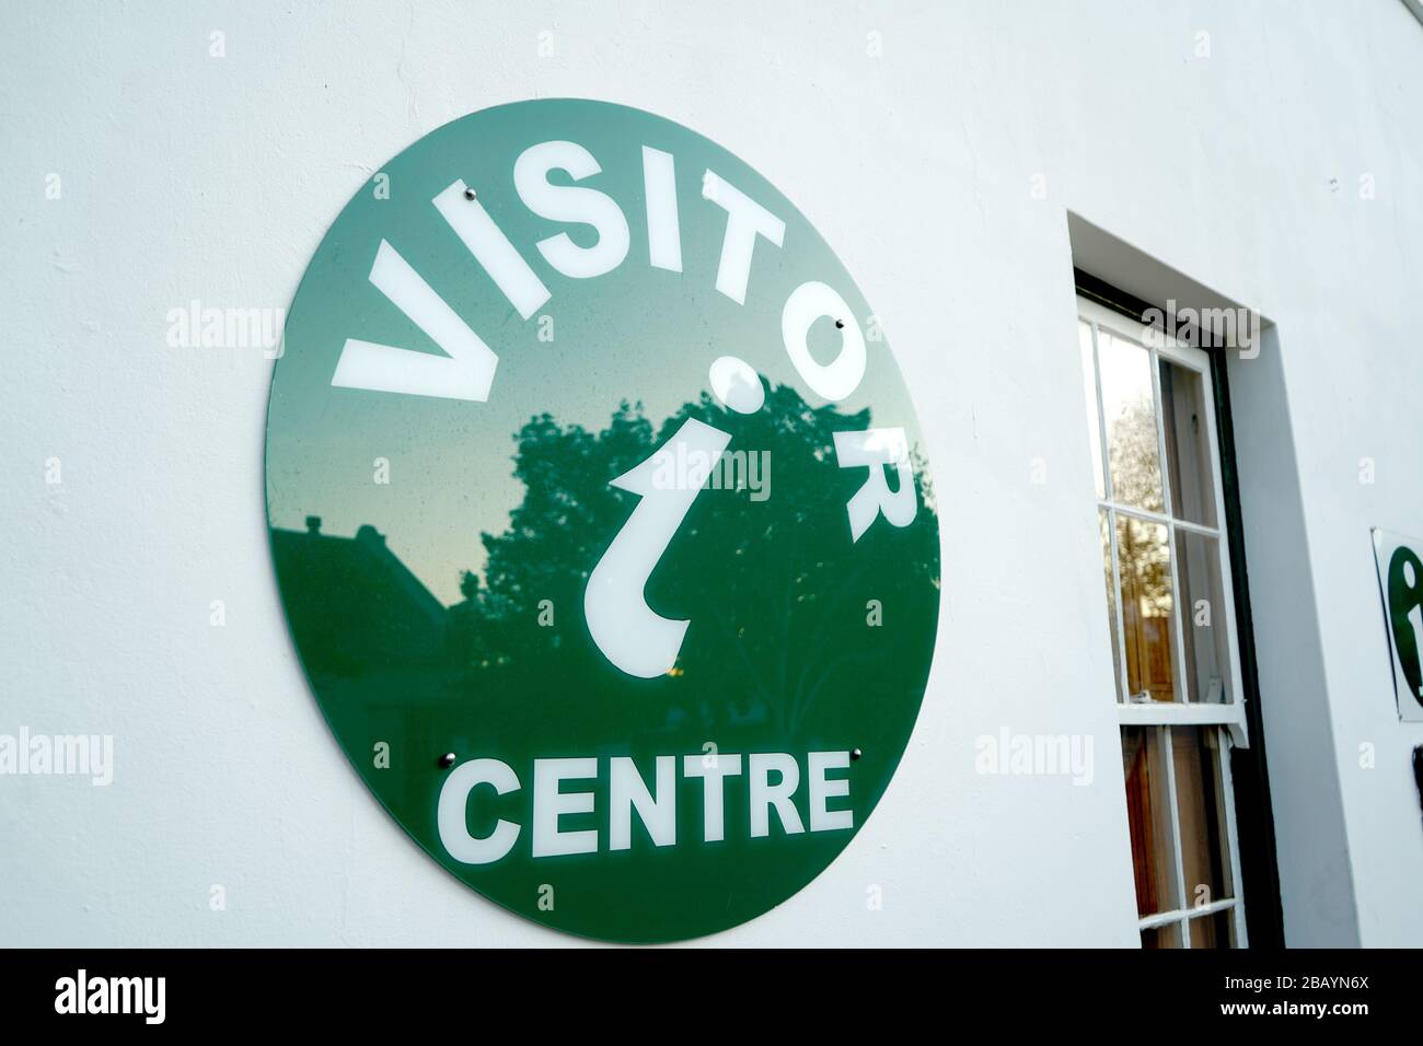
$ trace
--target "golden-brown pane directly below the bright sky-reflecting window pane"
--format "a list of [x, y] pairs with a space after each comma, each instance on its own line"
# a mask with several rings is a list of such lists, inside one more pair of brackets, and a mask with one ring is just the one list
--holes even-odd
[[1118, 512], [1117, 569], [1130, 700], [1177, 700], [1171, 672], [1175, 650], [1171, 545], [1165, 527]]

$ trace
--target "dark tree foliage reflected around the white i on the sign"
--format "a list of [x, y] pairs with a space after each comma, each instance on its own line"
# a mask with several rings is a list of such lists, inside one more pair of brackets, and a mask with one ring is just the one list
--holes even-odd
[[[583, 589], [635, 505], [609, 481], [687, 418], [729, 431], [731, 450], [767, 453], [770, 498], [753, 501], [744, 487], [702, 491], [646, 591], [659, 613], [692, 620], [682, 656], [669, 677], [633, 680], [593, 646]], [[484, 583], [465, 574], [465, 601], [451, 608], [462, 686], [552, 712], [559, 699], [548, 692], [566, 682], [601, 690], [582, 697], [603, 700], [609, 714], [629, 692], [657, 690], [667, 729], [687, 719], [724, 727], [770, 717], [794, 729], [828, 693], [844, 700], [847, 687], [857, 702], [911, 689], [918, 700], [938, 606], [932, 494], [915, 460], [915, 521], [899, 529], [879, 519], [851, 542], [845, 504], [867, 472], [838, 467], [832, 433], [868, 426], [868, 410], [810, 407], [784, 386], [753, 416], [729, 414], [703, 394], [657, 431], [640, 404], [623, 403], [601, 433], [531, 418], [515, 437], [524, 501], [507, 531], [482, 537]], [[878, 632], [867, 630], [869, 599], [884, 606]], [[556, 615], [556, 626], [539, 626], [541, 609]], [[646, 712], [626, 714], [646, 727]]]

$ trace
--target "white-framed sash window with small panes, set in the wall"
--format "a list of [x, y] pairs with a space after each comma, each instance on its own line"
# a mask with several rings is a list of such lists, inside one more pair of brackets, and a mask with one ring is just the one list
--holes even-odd
[[1245, 945], [1245, 741], [1205, 352], [1079, 297], [1106, 613], [1144, 948]]

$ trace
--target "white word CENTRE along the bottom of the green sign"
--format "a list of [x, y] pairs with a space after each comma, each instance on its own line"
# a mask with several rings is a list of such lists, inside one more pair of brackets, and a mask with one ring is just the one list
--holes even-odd
[[[679, 763], [680, 778], [676, 773]], [[747, 757], [746, 783], [737, 791], [751, 838], [805, 833], [801, 807], [795, 801], [803, 793], [803, 780], [807, 781], [804, 805], [810, 810], [810, 831], [854, 828], [854, 813], [848, 808], [850, 751], [811, 751], [804, 763], [803, 774], [801, 760], [787, 753], [763, 751]], [[638, 766], [626, 756], [606, 760], [606, 773], [602, 776], [601, 760], [593, 757], [535, 759], [534, 796], [524, 803], [525, 810], [532, 807], [531, 855], [542, 858], [630, 850], [633, 811], [655, 847], [676, 845], [677, 801], [686, 797], [702, 800], [700, 841], [724, 841], [727, 781], [741, 777], [743, 757], [736, 753], [717, 753], [714, 760], [707, 760], [700, 753], [682, 756], [680, 760], [676, 756], [657, 756], [653, 766], [655, 787], [649, 788]], [[830, 777], [831, 771], [847, 773]], [[700, 788], [687, 784], [696, 780], [702, 781]], [[521, 788], [512, 767], [497, 759], [461, 763], [450, 771], [440, 788], [440, 841], [460, 864], [499, 861], [514, 850], [521, 833], [517, 823], [492, 814], [485, 814], [485, 820], [494, 820], [492, 831], [475, 835], [470, 830], [471, 798], [485, 784], [494, 788], [495, 796], [508, 796]], [[683, 786], [680, 790], [679, 784]], [[596, 817], [599, 794], [608, 796], [606, 821]], [[831, 810], [831, 801], [844, 801], [847, 805]], [[565, 818], [578, 821], [569, 825], [564, 824]], [[598, 827], [588, 827], [591, 823]]]

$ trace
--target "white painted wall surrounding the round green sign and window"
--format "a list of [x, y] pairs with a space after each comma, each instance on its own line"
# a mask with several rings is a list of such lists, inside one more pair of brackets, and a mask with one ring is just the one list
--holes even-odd
[[[349, 196], [424, 132], [554, 95], [670, 117], [797, 202], [884, 317], [946, 509], [939, 650], [894, 786], [810, 888], [713, 944], [1137, 941], [1067, 209], [1278, 323], [1288, 423], [1264, 369], [1237, 384], [1264, 404], [1242, 424], [1252, 549], [1289, 522], [1259, 491], [1292, 447], [1308, 552], [1261, 552], [1257, 619], [1294, 620], [1303, 576], [1316, 618], [1262, 628], [1286, 928], [1423, 942], [1423, 727], [1393, 712], [1368, 541], [1423, 534], [1423, 26], [1395, 0], [1086, 7], [7, 11], [0, 731], [111, 733], [117, 767], [108, 788], [0, 778], [0, 944], [568, 942], [445, 875], [349, 770], [272, 579], [270, 363], [164, 340], [195, 297], [286, 306]], [[1319, 650], [1319, 730], [1291, 729], [1291, 643]], [[1096, 784], [975, 774], [1005, 724], [1091, 733]], [[1279, 783], [1303, 778], [1340, 796], [1332, 867]]]

